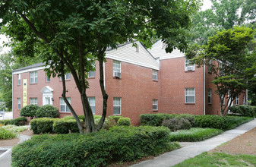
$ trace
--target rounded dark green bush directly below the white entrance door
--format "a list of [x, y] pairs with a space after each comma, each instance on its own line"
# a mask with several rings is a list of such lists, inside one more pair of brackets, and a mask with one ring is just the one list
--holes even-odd
[[41, 106], [40, 109], [36, 111], [36, 118], [57, 118], [58, 115], [58, 109], [52, 105]]

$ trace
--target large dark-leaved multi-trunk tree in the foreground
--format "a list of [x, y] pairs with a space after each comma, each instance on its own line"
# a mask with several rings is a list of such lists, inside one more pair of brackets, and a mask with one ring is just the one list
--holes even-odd
[[[119, 43], [134, 39], [147, 43], [156, 35], [167, 44], [167, 52], [175, 48], [185, 51], [185, 29], [199, 2], [4, 0], [0, 2], [0, 17], [2, 30], [12, 37], [14, 44], [19, 41], [27, 49], [44, 48], [43, 61], [50, 67], [46, 69], [47, 74], [64, 78], [65, 72], [71, 72], [81, 94], [86, 130], [92, 132], [100, 130], [106, 118], [108, 95], [103, 84], [106, 48], [115, 49]], [[100, 64], [103, 94], [103, 115], [97, 128], [86, 95], [87, 73], [93, 70], [95, 60]], [[65, 80], [62, 86], [62, 97], [83, 133], [80, 120], [65, 96]]]

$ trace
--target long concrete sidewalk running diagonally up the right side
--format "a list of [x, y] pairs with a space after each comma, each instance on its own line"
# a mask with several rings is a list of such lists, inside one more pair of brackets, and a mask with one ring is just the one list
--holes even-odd
[[150, 159], [144, 162], [140, 162], [132, 167], [165, 167], [176, 165], [185, 159], [190, 159], [206, 151], [212, 150], [213, 148], [219, 146], [226, 141], [232, 140], [233, 138], [244, 134], [247, 131], [256, 127], [256, 119], [249, 121], [248, 123], [242, 124], [239, 127], [232, 129], [230, 131], [225, 131], [216, 137], [201, 141], [201, 142], [184, 142], [180, 143], [181, 149], [171, 151], [169, 153], [164, 153], [161, 156], [157, 156], [154, 159]]

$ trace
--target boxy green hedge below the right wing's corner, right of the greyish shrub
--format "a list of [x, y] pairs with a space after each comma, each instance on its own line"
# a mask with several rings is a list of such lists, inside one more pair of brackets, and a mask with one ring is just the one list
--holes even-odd
[[216, 115], [195, 115], [195, 127], [226, 129], [226, 118]]

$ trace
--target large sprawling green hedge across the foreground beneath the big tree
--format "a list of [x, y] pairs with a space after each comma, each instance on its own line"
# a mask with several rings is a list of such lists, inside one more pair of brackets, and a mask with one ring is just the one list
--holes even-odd
[[[33, 136], [12, 150], [12, 166], [106, 166], [171, 149], [164, 127], [114, 127], [92, 134]], [[175, 146], [178, 147], [178, 146]]]

